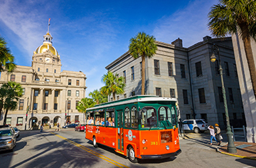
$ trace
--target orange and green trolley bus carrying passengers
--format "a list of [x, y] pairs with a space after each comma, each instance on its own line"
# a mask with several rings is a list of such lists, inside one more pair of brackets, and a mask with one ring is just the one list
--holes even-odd
[[137, 95], [88, 108], [85, 138], [94, 147], [111, 147], [131, 162], [176, 156], [181, 153], [176, 101]]

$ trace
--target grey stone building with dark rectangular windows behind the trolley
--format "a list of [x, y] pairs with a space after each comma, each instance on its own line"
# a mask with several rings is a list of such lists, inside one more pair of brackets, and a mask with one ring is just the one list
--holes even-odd
[[[145, 94], [177, 98], [182, 120], [203, 118], [210, 125], [219, 123], [220, 127], [225, 127], [218, 61], [210, 62], [213, 43], [220, 48], [230, 120], [234, 125], [238, 120], [242, 123], [244, 113], [230, 37], [206, 36], [188, 48], [183, 47], [179, 38], [172, 43], [156, 41], [156, 54], [146, 58]], [[117, 95], [117, 100], [141, 94], [142, 58], [134, 60], [127, 51], [106, 69], [126, 79], [125, 93]]]

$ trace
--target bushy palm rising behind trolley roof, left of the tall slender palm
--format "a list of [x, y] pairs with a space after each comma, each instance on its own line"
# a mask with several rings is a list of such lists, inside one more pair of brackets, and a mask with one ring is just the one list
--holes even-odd
[[115, 95], [124, 93], [124, 77], [118, 77], [117, 74], [113, 75], [112, 72], [108, 71], [107, 74], [102, 76], [102, 81], [105, 83], [100, 89], [100, 93], [103, 95], [113, 95], [113, 100], [115, 100]]

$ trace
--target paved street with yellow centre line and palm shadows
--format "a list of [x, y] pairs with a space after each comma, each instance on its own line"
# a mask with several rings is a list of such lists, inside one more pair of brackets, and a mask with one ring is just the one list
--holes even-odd
[[0, 152], [0, 167], [255, 167], [256, 161], [215, 152], [209, 135], [181, 140], [181, 154], [162, 160], [129, 159], [107, 147], [94, 148], [84, 132], [21, 132], [14, 152]]

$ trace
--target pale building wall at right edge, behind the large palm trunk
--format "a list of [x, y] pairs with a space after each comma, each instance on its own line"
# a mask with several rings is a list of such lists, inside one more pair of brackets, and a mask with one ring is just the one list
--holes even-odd
[[[256, 99], [252, 89], [252, 80], [248, 68], [245, 47], [242, 38], [238, 34], [232, 35], [232, 41], [235, 53], [235, 62], [238, 66], [238, 79], [240, 92], [242, 95], [242, 104], [245, 111], [247, 142], [256, 142]], [[256, 65], [256, 42], [251, 39], [252, 54]]]

